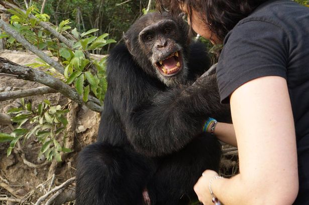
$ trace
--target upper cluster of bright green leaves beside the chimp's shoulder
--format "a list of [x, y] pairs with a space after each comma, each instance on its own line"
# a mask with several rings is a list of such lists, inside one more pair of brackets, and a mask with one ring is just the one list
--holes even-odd
[[[109, 44], [116, 43], [115, 40], [108, 39], [109, 34], [105, 33], [98, 37], [93, 36], [98, 29], [79, 33], [76, 28], [71, 28], [69, 20], [64, 20], [54, 29], [63, 35], [67, 33], [72, 35], [70, 41], [73, 47], [71, 49], [39, 25], [41, 21], [48, 22], [50, 17], [46, 14], [39, 14], [35, 6], [29, 7], [26, 12], [27, 14], [18, 9], [8, 11], [13, 15], [11, 17], [11, 25], [16, 31], [23, 35], [30, 43], [36, 45], [38, 49], [49, 50], [54, 57], [59, 59], [65, 67], [64, 78], [66, 83], [75, 86], [78, 94], [83, 97], [84, 102], [88, 100], [90, 91], [101, 102], [104, 100], [107, 89], [105, 59], [101, 61], [89, 60], [85, 57], [84, 53], [100, 50]], [[30, 19], [28, 16], [31, 14], [35, 15], [37, 19]], [[5, 32], [0, 34], [0, 38], [6, 37], [8, 35]], [[14, 38], [10, 37], [8, 44], [16, 46], [18, 43]], [[29, 64], [28, 66], [32, 68], [41, 67], [48, 74], [57, 77], [55, 69], [51, 68], [41, 59], [37, 59], [37, 61], [39, 63]], [[86, 90], [84, 91], [84, 89]]]

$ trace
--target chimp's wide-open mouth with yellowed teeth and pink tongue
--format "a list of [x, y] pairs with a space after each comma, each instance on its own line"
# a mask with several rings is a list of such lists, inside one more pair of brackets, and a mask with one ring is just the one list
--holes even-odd
[[155, 65], [163, 76], [169, 77], [176, 75], [182, 68], [181, 54], [179, 51], [172, 53]]

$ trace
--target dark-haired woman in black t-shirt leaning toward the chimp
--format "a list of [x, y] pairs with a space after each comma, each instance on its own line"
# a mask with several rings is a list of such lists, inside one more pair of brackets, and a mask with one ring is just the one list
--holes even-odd
[[194, 187], [199, 200], [309, 204], [309, 9], [289, 0], [160, 3], [224, 44], [217, 78], [233, 125], [207, 125], [238, 147], [240, 173], [227, 179], [205, 170]]

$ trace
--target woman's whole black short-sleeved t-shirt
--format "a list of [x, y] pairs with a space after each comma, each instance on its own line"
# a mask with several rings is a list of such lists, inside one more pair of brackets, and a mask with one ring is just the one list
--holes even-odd
[[223, 103], [242, 84], [263, 76], [286, 79], [296, 129], [299, 192], [309, 204], [309, 8], [268, 1], [229, 32], [217, 66]]

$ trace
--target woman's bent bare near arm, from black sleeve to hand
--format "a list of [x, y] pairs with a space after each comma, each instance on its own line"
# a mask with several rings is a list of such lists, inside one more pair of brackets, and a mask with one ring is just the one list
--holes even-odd
[[[224, 204], [291, 204], [298, 192], [296, 139], [286, 80], [261, 77], [231, 96], [240, 174], [212, 183]], [[213, 204], [206, 171], [194, 190], [204, 204]]]

